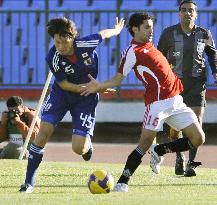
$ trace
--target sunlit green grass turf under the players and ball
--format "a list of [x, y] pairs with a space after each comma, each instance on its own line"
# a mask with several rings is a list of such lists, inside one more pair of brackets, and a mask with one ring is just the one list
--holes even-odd
[[0, 160], [0, 205], [20, 204], [216, 204], [217, 170], [198, 169], [197, 177], [176, 176], [171, 167], [154, 175], [140, 166], [129, 183], [129, 193], [93, 195], [87, 188], [88, 176], [97, 169], [110, 171], [118, 179], [123, 165], [101, 163], [43, 162], [32, 194], [18, 192], [25, 176], [26, 161]]

